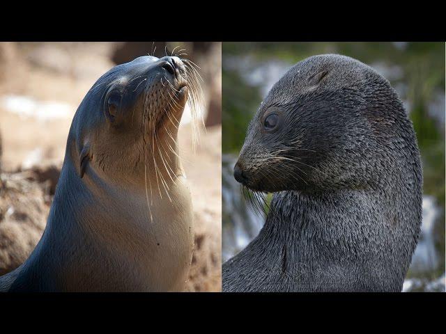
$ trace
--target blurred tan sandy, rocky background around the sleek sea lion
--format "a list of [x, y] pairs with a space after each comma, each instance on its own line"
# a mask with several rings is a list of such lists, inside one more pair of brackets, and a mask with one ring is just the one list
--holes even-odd
[[179, 131], [195, 217], [185, 290], [221, 290], [220, 42], [0, 42], [0, 275], [24, 262], [40, 239], [71, 120], [89, 88], [116, 64], [179, 49], [201, 68], [206, 100], [206, 131], [195, 151], [188, 109]]

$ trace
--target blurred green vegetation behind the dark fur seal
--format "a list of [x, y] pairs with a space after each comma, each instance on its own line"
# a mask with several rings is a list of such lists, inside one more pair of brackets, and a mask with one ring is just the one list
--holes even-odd
[[[436, 224], [436, 247], [443, 250], [439, 275], [445, 271], [445, 43], [444, 42], [224, 42], [222, 68], [222, 108], [224, 153], [238, 154], [249, 120], [262, 100], [259, 87], [249, 86], [238, 69], [226, 62], [249, 57], [253, 62], [282, 61], [290, 66], [315, 54], [337, 53], [369, 65], [399, 67], [401, 75], [390, 79], [406, 102], [423, 162], [424, 194], [434, 196], [441, 208]], [[443, 118], [435, 118], [429, 108], [440, 100]], [[443, 102], [441, 102], [443, 101]], [[442, 120], [442, 121], [439, 121]]]

